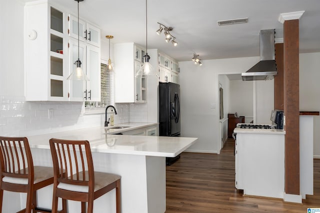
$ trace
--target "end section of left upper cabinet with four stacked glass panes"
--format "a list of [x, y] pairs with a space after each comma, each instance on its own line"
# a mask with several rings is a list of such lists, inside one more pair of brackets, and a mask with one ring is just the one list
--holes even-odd
[[[67, 33], [62, 10], [47, 2], [24, 7], [26, 101], [67, 101]], [[36, 82], [36, 83], [34, 83]]]

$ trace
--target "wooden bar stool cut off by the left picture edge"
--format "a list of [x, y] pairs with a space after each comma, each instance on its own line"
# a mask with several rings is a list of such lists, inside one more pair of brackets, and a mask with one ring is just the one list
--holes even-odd
[[3, 190], [26, 193], [26, 207], [18, 213], [31, 213], [31, 210], [32, 213], [50, 213], [50, 210], [37, 208], [36, 190], [53, 184], [53, 168], [33, 166], [29, 143], [25, 137], [0, 137], [0, 150], [0, 213]]

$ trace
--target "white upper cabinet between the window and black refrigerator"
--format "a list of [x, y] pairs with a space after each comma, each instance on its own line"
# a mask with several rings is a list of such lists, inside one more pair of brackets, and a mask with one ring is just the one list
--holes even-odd
[[115, 103], [145, 103], [146, 76], [135, 77], [140, 69], [145, 49], [134, 43], [114, 44], [114, 101]]

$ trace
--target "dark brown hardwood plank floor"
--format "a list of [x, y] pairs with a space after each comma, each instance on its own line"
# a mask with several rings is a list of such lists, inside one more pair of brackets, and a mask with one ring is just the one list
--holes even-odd
[[234, 188], [233, 148], [230, 139], [220, 155], [186, 152], [166, 167], [165, 213], [306, 213], [320, 208], [320, 159], [314, 159], [314, 196], [302, 204], [284, 203], [242, 196]]

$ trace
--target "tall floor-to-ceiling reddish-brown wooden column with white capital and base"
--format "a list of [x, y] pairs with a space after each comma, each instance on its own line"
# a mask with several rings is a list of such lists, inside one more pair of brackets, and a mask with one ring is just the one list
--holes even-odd
[[284, 115], [285, 115], [285, 193], [299, 195], [299, 20], [285, 20]]

